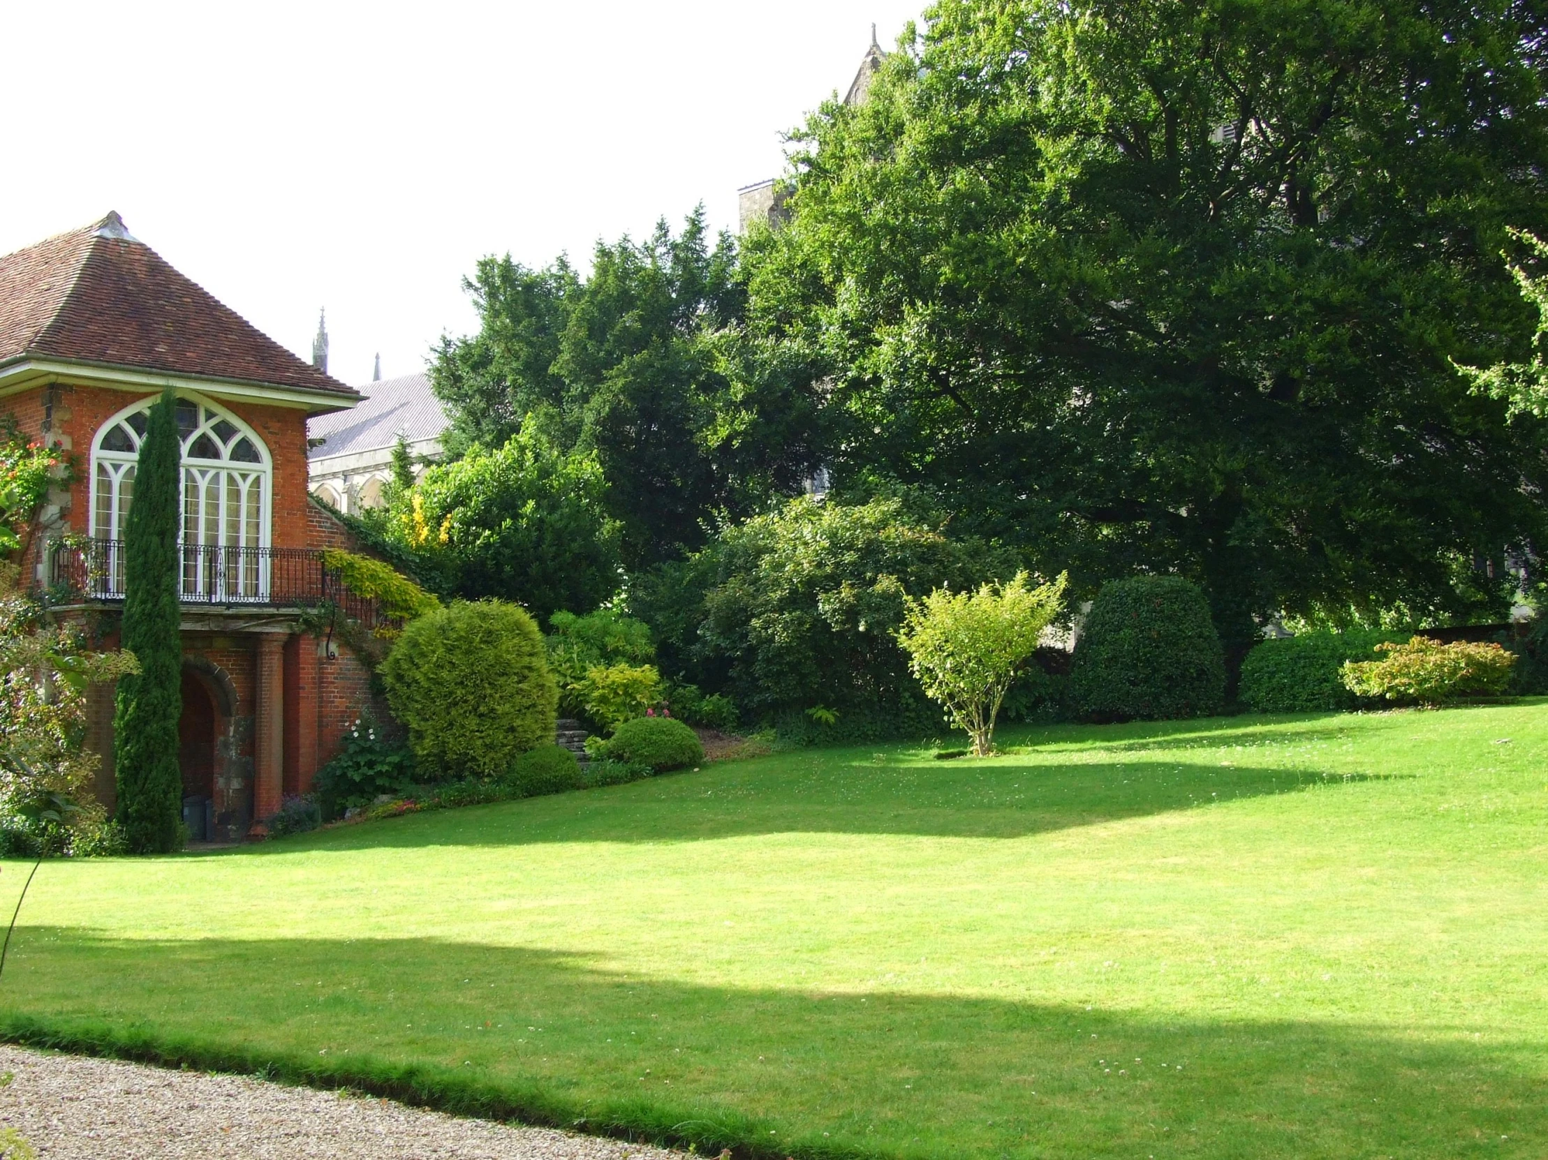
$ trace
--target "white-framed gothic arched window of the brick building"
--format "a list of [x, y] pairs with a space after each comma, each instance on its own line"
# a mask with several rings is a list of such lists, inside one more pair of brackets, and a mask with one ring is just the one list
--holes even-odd
[[[91, 535], [96, 540], [124, 538], [152, 404], [155, 397], [119, 411], [91, 441]], [[229, 565], [237, 569], [229, 580], [224, 577], [229, 566], [221, 566], [221, 588], [255, 594], [259, 554], [248, 549], [269, 544], [269, 450], [241, 419], [204, 399], [180, 397], [176, 418], [183, 441], [184, 592], [190, 585], [203, 589], [201, 574], [209, 571], [204, 558], [226, 549], [224, 555], [238, 554], [245, 560]], [[248, 592], [249, 588], [254, 592]]]

